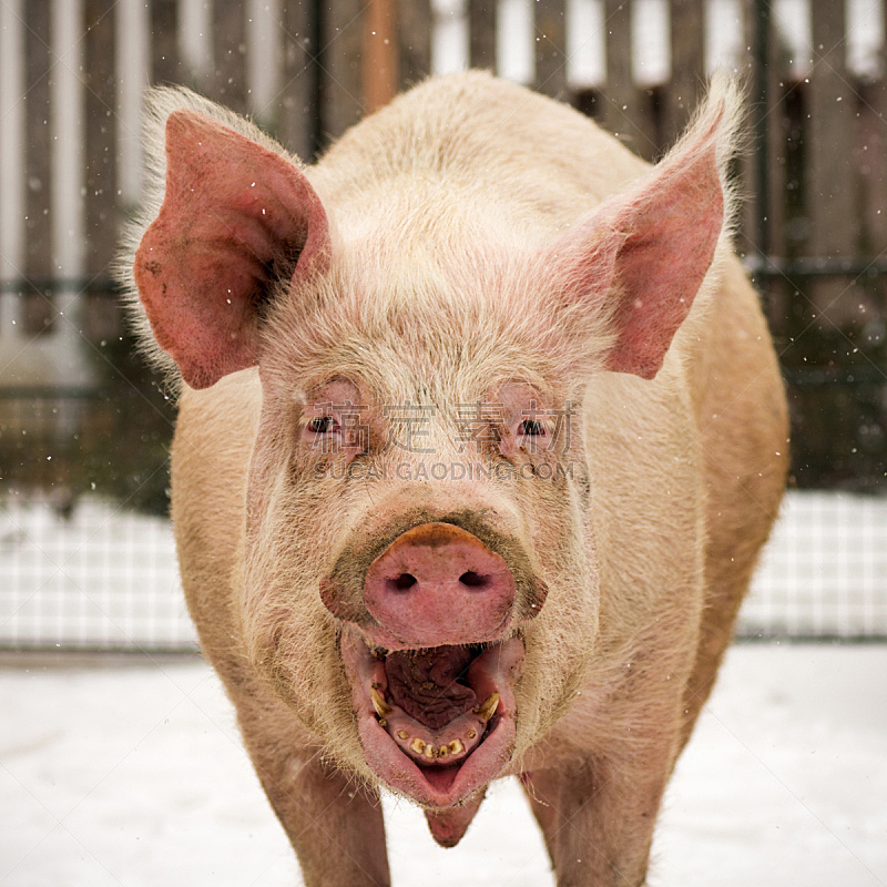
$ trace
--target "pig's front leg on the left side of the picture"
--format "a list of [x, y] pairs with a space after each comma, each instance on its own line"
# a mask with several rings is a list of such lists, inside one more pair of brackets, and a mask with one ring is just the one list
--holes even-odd
[[[279, 717], [279, 715], [278, 715]], [[389, 885], [379, 793], [294, 745], [266, 713], [241, 728], [262, 786], [298, 856], [306, 887]]]

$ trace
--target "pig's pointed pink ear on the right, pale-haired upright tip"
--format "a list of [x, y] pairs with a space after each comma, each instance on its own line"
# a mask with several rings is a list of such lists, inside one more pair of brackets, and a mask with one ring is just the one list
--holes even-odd
[[604, 368], [652, 379], [708, 271], [724, 223], [718, 169], [737, 99], [723, 89], [639, 187], [580, 220], [548, 251], [571, 312], [608, 317]]

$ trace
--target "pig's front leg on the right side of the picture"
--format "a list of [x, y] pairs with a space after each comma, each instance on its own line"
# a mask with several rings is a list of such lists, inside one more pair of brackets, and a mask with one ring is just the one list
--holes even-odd
[[521, 776], [558, 887], [645, 884], [667, 757], [652, 751], [645, 762], [594, 761]]

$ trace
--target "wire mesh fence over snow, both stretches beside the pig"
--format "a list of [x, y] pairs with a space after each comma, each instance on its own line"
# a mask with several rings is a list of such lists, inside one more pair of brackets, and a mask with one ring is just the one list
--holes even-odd
[[[793, 490], [740, 618], [745, 638], [887, 636], [887, 501]], [[83, 497], [0, 501], [0, 648], [192, 651], [166, 519]]]

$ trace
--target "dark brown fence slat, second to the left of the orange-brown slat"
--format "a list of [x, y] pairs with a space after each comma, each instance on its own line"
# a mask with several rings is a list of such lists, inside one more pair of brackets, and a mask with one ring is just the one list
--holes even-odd
[[284, 55], [279, 137], [306, 163], [319, 149], [317, 23], [309, 3], [286, 3], [283, 10]]

